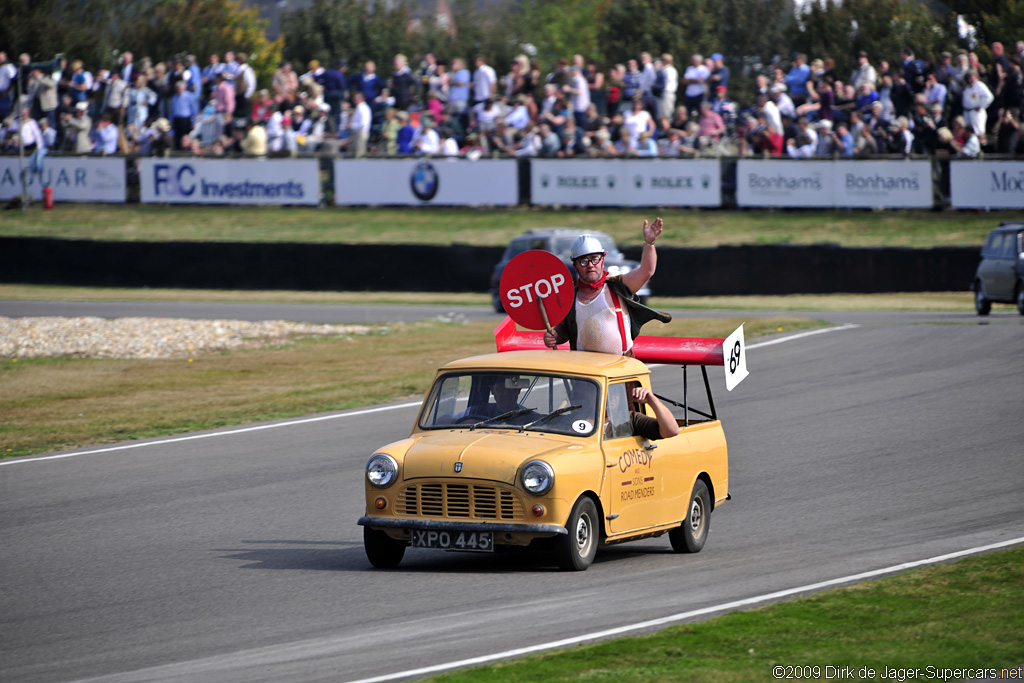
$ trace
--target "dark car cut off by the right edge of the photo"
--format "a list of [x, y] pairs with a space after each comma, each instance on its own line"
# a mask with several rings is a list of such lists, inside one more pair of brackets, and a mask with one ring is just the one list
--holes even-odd
[[979, 315], [988, 315], [993, 301], [1017, 304], [1024, 315], [1024, 222], [1001, 223], [988, 233], [971, 290]]

